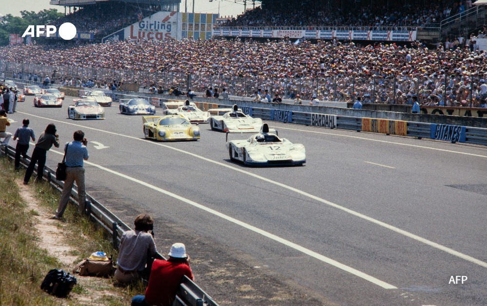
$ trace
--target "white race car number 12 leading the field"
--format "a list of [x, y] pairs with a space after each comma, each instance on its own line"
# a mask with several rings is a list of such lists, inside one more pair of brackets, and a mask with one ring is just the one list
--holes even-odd
[[302, 144], [292, 143], [270, 133], [267, 123], [258, 134], [246, 140], [226, 143], [230, 160], [239, 160], [245, 165], [302, 165], [306, 162], [306, 150]]

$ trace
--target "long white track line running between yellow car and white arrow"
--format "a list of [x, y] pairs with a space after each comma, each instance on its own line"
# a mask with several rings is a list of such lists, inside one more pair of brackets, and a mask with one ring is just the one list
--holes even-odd
[[[19, 112], [21, 113], [21, 112]], [[352, 209], [349, 209], [349, 208], [346, 208], [344, 206], [341, 206], [341, 205], [338, 205], [338, 204], [335, 204], [333, 202], [330, 202], [330, 201], [327, 201], [325, 199], [321, 199], [315, 195], [312, 195], [310, 193], [307, 193], [307, 192], [304, 192], [304, 191], [301, 191], [297, 188], [294, 188], [294, 187], [291, 187], [291, 186], [288, 186], [288, 185], [285, 185], [285, 184], [282, 184], [282, 183], [279, 183], [279, 182], [276, 182], [276, 181], [273, 181], [273, 180], [270, 180], [268, 178], [265, 178], [263, 176], [260, 176], [260, 175], [257, 175], [257, 174], [254, 174], [252, 172], [248, 172], [248, 171], [245, 171], [245, 170], [242, 170], [242, 169], [239, 169], [239, 168], [235, 168], [233, 166], [230, 166], [230, 165], [227, 165], [227, 164], [224, 164], [224, 163], [221, 163], [221, 162], [217, 162], [215, 160], [212, 160], [212, 159], [209, 159], [209, 158], [206, 158], [206, 157], [203, 157], [203, 156], [200, 156], [198, 154], [195, 154], [195, 153], [190, 153], [190, 152], [187, 152], [187, 151], [184, 151], [184, 150], [181, 150], [181, 149], [177, 149], [177, 148], [173, 148], [173, 147], [170, 147], [168, 145], [165, 145], [165, 144], [162, 144], [162, 143], [158, 143], [158, 142], [154, 142], [154, 141], [151, 141], [151, 140], [148, 140], [148, 139], [142, 139], [142, 138], [138, 138], [138, 137], [133, 137], [133, 136], [127, 136], [127, 135], [123, 135], [123, 134], [118, 134], [118, 133], [113, 133], [113, 132], [108, 132], [108, 131], [103, 131], [103, 130], [100, 130], [100, 129], [96, 129], [96, 128], [92, 128], [92, 127], [87, 127], [87, 126], [83, 126], [83, 125], [79, 125], [79, 124], [75, 124], [75, 123], [70, 123], [70, 122], [64, 122], [64, 121], [59, 121], [59, 120], [55, 120], [55, 119], [49, 119], [49, 118], [45, 118], [45, 117], [40, 117], [40, 116], [36, 116], [36, 115], [32, 115], [32, 114], [28, 114], [28, 113], [21, 113], [21, 114], [25, 114], [25, 115], [29, 115], [29, 116], [33, 116], [33, 117], [37, 117], [37, 118], [41, 118], [41, 119], [48, 119], [48, 120], [51, 120], [51, 121], [56, 121], [56, 122], [60, 122], [60, 123], [64, 123], [64, 124], [70, 124], [70, 125], [75, 125], [75, 126], [79, 126], [79, 127], [82, 127], [84, 129], [90, 129], [90, 130], [95, 130], [95, 131], [99, 131], [99, 132], [104, 132], [104, 133], [108, 133], [108, 134], [112, 134], [112, 135], [117, 135], [117, 136], [122, 136], [122, 137], [127, 137], [127, 138], [131, 138], [131, 139], [136, 139], [136, 140], [139, 140], [139, 141], [145, 141], [145, 142], [148, 142], [148, 143], [151, 143], [151, 144], [154, 144], [154, 145], [158, 145], [158, 146], [161, 146], [161, 147], [164, 147], [164, 148], [168, 148], [168, 149], [171, 149], [171, 150], [174, 150], [174, 151], [177, 151], [177, 152], [180, 152], [180, 153], [185, 153], [185, 154], [188, 154], [188, 155], [191, 155], [191, 156], [194, 156], [196, 158], [199, 158], [199, 159], [202, 159], [202, 160], [205, 160], [207, 162], [210, 162], [210, 163], [213, 163], [213, 164], [216, 164], [216, 165], [220, 165], [222, 167], [225, 167], [227, 169], [231, 169], [231, 170], [234, 170], [234, 171], [237, 171], [237, 172], [240, 172], [240, 173], [244, 173], [244, 174], [247, 174], [247, 175], [250, 175], [254, 178], [257, 178], [257, 179], [260, 179], [264, 182], [267, 182], [267, 183], [271, 183], [271, 184], [274, 184], [274, 185], [277, 185], [279, 187], [282, 187], [282, 188], [285, 188], [285, 189], [288, 189], [288, 190], [291, 190], [291, 191], [294, 191], [296, 193], [299, 193], [300, 195], [303, 195], [305, 197], [308, 197], [310, 199], [313, 199], [315, 201], [318, 201], [320, 203], [323, 203], [323, 204], [327, 204], [329, 206], [332, 206], [332, 207], [335, 207], [337, 209], [340, 209], [344, 212], [347, 212], [351, 215], [354, 215], [358, 218], [361, 218], [363, 220], [366, 220], [366, 221], [370, 221], [372, 223], [375, 223], [379, 226], [382, 226], [384, 228], [387, 228], [389, 230], [392, 230], [396, 233], [399, 233], [401, 235], [404, 235], [406, 237], [409, 237], [409, 238], [412, 238], [414, 240], [417, 240], [419, 242], [422, 242], [422, 243], [425, 243], [427, 245], [430, 245], [432, 246], [433, 248], [436, 248], [438, 250], [441, 250], [441, 251], [444, 251], [446, 253], [449, 253], [451, 255], [454, 255], [454, 256], [457, 256], [459, 258], [462, 258], [462, 259], [465, 259], [465, 260], [468, 260], [470, 262], [473, 262], [479, 266], [482, 266], [484, 268], [487, 268], [487, 262], [484, 262], [482, 260], [479, 260], [477, 258], [474, 258], [472, 256], [469, 256], [469, 255], [466, 255], [466, 254], [463, 254], [463, 253], [460, 253], [458, 251], [455, 251], [453, 249], [450, 249], [449, 247], [446, 247], [444, 245], [441, 245], [439, 243], [436, 243], [436, 242], [433, 242], [431, 240], [428, 240], [426, 238], [422, 238], [420, 236], [417, 236], [417, 235], [414, 235], [408, 231], [405, 231], [405, 230], [402, 230], [398, 227], [395, 227], [391, 224], [388, 224], [388, 223], [385, 223], [385, 222], [382, 222], [382, 221], [379, 221], [379, 220], [376, 220], [372, 217], [369, 217], [367, 215], [364, 215], [364, 214], [361, 214], [355, 210], [352, 210]], [[387, 141], [384, 141], [384, 142], [387, 142]], [[482, 155], [479, 155], [481, 157], [485, 157], [485, 156], [482, 156]]]

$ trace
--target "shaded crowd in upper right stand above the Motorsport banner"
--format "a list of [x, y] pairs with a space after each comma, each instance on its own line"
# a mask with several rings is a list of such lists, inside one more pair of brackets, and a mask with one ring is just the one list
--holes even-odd
[[420, 5], [414, 0], [353, 2], [340, 6], [329, 1], [267, 1], [229, 20], [224, 26], [426, 27], [472, 6], [470, 0], [431, 0], [426, 4], [420, 1]]

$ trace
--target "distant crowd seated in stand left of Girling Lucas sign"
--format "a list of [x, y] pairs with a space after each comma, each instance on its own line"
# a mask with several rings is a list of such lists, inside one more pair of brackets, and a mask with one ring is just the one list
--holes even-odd
[[56, 19], [51, 24], [59, 28], [64, 22], [71, 22], [78, 32], [89, 32], [95, 37], [102, 37], [160, 11], [160, 7], [124, 5], [125, 7], [120, 7], [120, 3], [112, 1], [88, 5]]

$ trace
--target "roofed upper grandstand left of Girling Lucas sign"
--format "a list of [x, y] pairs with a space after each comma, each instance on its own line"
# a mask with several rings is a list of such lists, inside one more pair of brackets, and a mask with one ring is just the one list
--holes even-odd
[[71, 22], [76, 26], [78, 39], [100, 41], [156, 12], [177, 12], [180, 3], [181, 0], [52, 0], [52, 5], [64, 6], [66, 13], [52, 24], [59, 27]]

